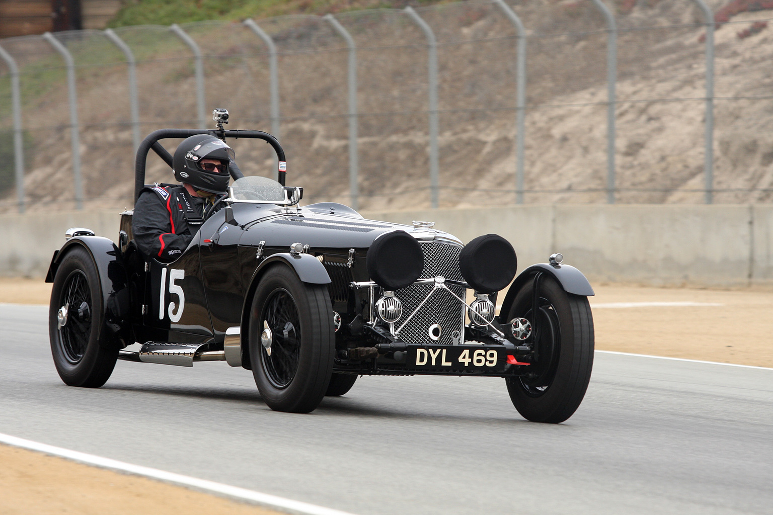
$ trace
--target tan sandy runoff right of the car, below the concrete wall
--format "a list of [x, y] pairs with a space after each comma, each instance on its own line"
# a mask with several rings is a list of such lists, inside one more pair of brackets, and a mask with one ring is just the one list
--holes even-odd
[[[773, 367], [771, 291], [595, 285], [594, 289], [597, 349]], [[700, 305], [604, 307], [644, 302]]]

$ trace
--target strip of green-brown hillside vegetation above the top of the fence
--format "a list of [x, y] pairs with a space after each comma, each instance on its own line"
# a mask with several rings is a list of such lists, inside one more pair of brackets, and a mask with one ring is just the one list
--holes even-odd
[[128, 0], [110, 22], [125, 25], [172, 25], [210, 19], [267, 18], [308, 14], [324, 15], [366, 8], [403, 8], [449, 0]]

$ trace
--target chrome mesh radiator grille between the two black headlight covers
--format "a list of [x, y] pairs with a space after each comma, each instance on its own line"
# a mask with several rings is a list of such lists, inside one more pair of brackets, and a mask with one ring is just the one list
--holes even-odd
[[[464, 281], [459, 271], [459, 253], [461, 246], [446, 242], [421, 242], [421, 250], [424, 252], [424, 270], [420, 279], [431, 279], [443, 276], [450, 280]], [[448, 289], [466, 302], [467, 289], [465, 286], [445, 283]], [[434, 293], [434, 284], [412, 284], [397, 290], [394, 294], [403, 303], [403, 314], [395, 327], [400, 327], [410, 317], [411, 313], [432, 293], [432, 296], [424, 303], [408, 324], [400, 331], [400, 340], [410, 344], [426, 345], [451, 345], [455, 342], [463, 342], [465, 334], [465, 306], [455, 299], [448, 290], [438, 289]], [[432, 325], [439, 324], [442, 334], [438, 341], [430, 338], [429, 329]], [[455, 338], [456, 336], [456, 338]]]

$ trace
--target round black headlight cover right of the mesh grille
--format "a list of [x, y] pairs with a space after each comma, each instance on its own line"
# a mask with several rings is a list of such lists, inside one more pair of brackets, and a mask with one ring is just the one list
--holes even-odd
[[516, 276], [517, 267], [515, 249], [496, 234], [478, 236], [459, 255], [461, 276], [480, 293], [502, 290]]

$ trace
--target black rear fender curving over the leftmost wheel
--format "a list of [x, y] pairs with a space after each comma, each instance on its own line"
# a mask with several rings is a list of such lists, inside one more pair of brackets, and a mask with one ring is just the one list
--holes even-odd
[[110, 239], [101, 236], [74, 236], [54, 252], [46, 274], [46, 283], [53, 283], [56, 271], [69, 249], [81, 246], [94, 260], [102, 291], [103, 324], [97, 335], [100, 344], [125, 347], [131, 343], [129, 324], [129, 290], [124, 259]]

